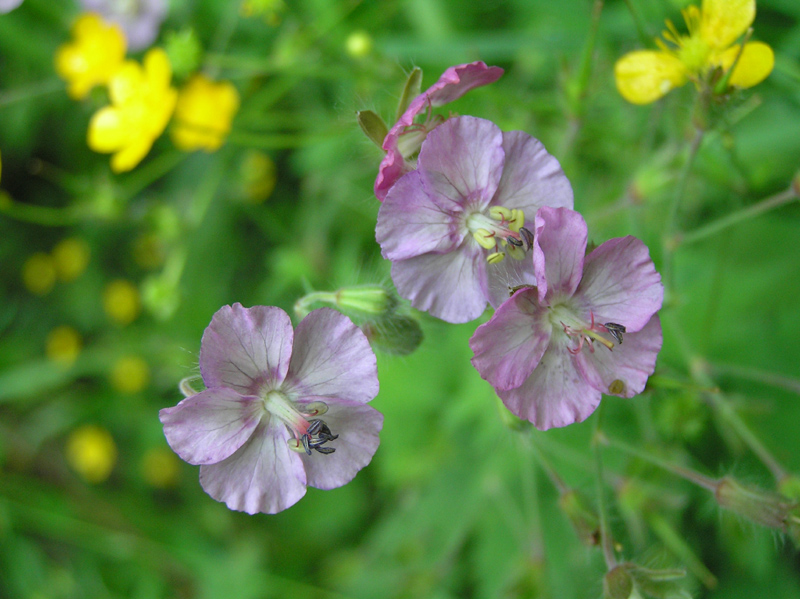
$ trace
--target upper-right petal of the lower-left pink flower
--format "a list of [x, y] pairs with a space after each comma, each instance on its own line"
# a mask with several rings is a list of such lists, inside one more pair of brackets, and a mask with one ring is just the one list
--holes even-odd
[[285, 385], [301, 399], [366, 403], [378, 394], [375, 353], [347, 316], [314, 310], [295, 330]]

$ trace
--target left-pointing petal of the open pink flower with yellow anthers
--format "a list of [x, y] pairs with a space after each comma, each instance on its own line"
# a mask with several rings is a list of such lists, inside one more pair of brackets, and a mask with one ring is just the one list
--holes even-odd
[[375, 238], [388, 260], [450, 251], [463, 237], [452, 214], [431, 201], [418, 171], [402, 177], [378, 211]]

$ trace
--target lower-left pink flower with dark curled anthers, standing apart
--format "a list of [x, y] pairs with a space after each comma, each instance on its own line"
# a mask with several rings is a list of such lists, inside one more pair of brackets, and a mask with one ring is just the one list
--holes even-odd
[[383, 416], [364, 334], [322, 308], [292, 331], [280, 308], [224, 306], [203, 335], [206, 390], [159, 412], [170, 447], [233, 510], [273, 514], [306, 486], [352, 480], [378, 448]]

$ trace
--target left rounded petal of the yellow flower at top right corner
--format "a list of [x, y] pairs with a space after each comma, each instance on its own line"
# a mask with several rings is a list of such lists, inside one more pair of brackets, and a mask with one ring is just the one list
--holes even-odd
[[620, 58], [614, 65], [614, 78], [619, 93], [632, 104], [655, 102], [687, 80], [680, 60], [655, 50], [637, 50]]

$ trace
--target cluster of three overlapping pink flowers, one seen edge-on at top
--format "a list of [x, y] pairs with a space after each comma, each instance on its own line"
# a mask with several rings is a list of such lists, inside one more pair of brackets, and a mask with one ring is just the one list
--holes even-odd
[[[540, 141], [471, 116], [411, 125], [441, 102], [437, 92], [454, 99], [494, 74], [483, 63], [451, 67], [388, 131], [376, 238], [415, 308], [456, 323], [491, 304], [470, 341], [473, 365], [515, 415], [566, 426], [602, 393], [644, 389], [661, 349], [663, 287], [638, 239], [586, 255], [572, 188]], [[403, 135], [418, 147], [403, 150]]]

